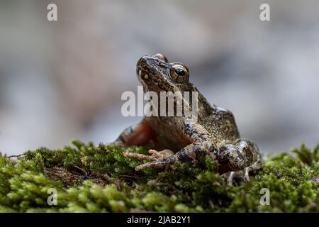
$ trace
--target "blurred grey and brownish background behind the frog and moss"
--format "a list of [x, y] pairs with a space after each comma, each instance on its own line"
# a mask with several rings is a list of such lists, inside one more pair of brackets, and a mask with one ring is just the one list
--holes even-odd
[[[47, 21], [47, 4], [57, 21]], [[259, 20], [270, 5], [271, 21]], [[262, 152], [319, 142], [319, 1], [0, 0], [0, 151], [115, 140], [135, 64], [161, 52]]]

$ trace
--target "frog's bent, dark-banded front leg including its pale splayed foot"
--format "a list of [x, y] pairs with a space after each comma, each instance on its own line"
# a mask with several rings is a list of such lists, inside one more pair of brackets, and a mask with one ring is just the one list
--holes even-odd
[[216, 146], [211, 143], [211, 137], [208, 135], [208, 131], [198, 124], [186, 125], [184, 127], [184, 133], [194, 142], [186, 145], [186, 147], [179, 150], [176, 154], [171, 150], [165, 149], [162, 151], [149, 150], [149, 153], [152, 155], [125, 153], [125, 157], [134, 157], [139, 160], [150, 161], [136, 167], [135, 170], [137, 171], [150, 167], [162, 169], [172, 167], [175, 162], [191, 162], [196, 164], [198, 157], [206, 155], [209, 151], [216, 148]]

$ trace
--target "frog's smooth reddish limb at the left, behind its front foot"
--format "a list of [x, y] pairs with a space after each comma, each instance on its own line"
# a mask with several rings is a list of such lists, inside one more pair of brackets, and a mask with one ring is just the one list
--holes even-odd
[[147, 121], [143, 120], [135, 126], [126, 128], [116, 139], [116, 144], [124, 147], [146, 145], [153, 138], [155, 138], [155, 131]]

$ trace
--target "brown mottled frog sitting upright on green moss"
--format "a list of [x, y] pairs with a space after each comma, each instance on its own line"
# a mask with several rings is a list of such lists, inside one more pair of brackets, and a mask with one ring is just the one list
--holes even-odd
[[[144, 92], [197, 92], [196, 121], [189, 116], [144, 116], [140, 123], [126, 128], [114, 142], [121, 148], [142, 146], [150, 155], [125, 152], [125, 157], [144, 160], [135, 167], [168, 170], [177, 162], [198, 165], [201, 157], [218, 162], [218, 171], [233, 184], [234, 179], [250, 181], [250, 172], [262, 168], [256, 143], [241, 138], [233, 113], [211, 104], [189, 80], [189, 68], [169, 62], [157, 53], [140, 57], [136, 74]], [[176, 103], [174, 103], [176, 104]], [[189, 107], [192, 103], [189, 101]]]

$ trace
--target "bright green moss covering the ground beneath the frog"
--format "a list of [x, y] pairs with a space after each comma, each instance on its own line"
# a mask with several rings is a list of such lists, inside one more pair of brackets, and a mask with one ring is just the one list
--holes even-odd
[[[142, 148], [129, 151], [147, 153]], [[228, 186], [218, 163], [204, 158], [198, 167], [174, 170], [134, 168], [115, 145], [78, 140], [62, 150], [39, 148], [18, 160], [0, 156], [0, 212], [318, 212], [319, 145], [293, 148], [296, 157], [264, 157], [250, 182]], [[269, 189], [270, 205], [260, 204]], [[47, 204], [50, 189], [57, 205]]]

